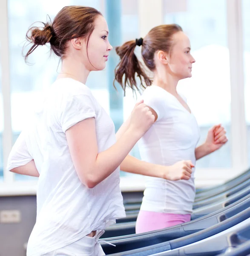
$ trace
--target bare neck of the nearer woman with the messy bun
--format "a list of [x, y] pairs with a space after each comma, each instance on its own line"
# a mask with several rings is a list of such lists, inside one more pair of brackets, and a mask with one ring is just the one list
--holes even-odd
[[89, 70], [76, 58], [66, 57], [62, 60], [62, 67], [57, 79], [72, 78], [86, 84]]

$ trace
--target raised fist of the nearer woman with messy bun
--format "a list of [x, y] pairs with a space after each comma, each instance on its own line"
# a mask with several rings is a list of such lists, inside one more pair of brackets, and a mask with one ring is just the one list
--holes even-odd
[[129, 128], [138, 133], [141, 138], [155, 121], [155, 116], [149, 108], [143, 103], [143, 100], [135, 104], [131, 113]]

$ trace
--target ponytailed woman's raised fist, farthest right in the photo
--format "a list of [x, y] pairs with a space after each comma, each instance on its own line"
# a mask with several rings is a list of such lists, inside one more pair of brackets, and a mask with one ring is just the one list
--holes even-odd
[[208, 131], [207, 140], [204, 144], [210, 149], [210, 153], [212, 153], [221, 148], [227, 141], [225, 128], [221, 125], [214, 125]]

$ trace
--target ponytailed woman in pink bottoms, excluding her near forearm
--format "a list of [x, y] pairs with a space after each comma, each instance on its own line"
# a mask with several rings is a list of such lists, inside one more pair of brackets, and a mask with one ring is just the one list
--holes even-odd
[[[137, 46], [141, 47], [142, 60], [153, 74], [152, 79], [134, 53]], [[189, 159], [188, 168], [193, 171], [190, 179], [147, 177], [136, 233], [190, 221], [195, 198], [195, 162], [227, 142], [224, 128], [215, 125], [209, 130], [205, 143], [197, 147], [198, 124], [187, 99], [177, 91], [178, 81], [192, 76], [195, 59], [190, 50], [189, 38], [176, 24], [157, 26], [144, 38], [116, 48], [121, 60], [115, 70], [115, 80], [124, 93], [127, 87], [146, 88], [141, 98], [155, 117], [154, 124], [139, 140], [141, 159], [162, 166]]]

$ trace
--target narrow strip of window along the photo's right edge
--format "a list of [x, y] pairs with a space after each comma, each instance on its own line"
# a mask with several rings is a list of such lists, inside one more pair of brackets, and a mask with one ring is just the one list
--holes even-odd
[[250, 164], [250, 101], [247, 96], [250, 95], [250, 27], [249, 16], [250, 1], [242, 1], [242, 23], [243, 23], [243, 40], [244, 40], [244, 95], [245, 95], [245, 111], [247, 123], [247, 142], [248, 142], [248, 163]]

